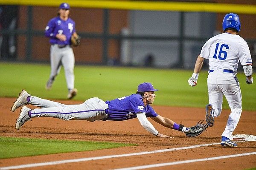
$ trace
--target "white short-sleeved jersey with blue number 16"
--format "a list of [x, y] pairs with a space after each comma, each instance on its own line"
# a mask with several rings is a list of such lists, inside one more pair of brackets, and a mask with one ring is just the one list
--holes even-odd
[[222, 33], [210, 38], [202, 47], [200, 56], [209, 59], [209, 69], [227, 69], [237, 73], [241, 65], [251, 65], [252, 57], [247, 43], [236, 34]]

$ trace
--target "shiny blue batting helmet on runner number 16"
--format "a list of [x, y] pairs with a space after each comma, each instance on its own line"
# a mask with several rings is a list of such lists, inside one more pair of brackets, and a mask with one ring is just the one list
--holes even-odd
[[225, 31], [226, 28], [234, 28], [236, 29], [236, 31], [240, 31], [241, 24], [239, 16], [234, 13], [226, 14], [225, 17], [223, 18], [222, 28], [223, 31]]

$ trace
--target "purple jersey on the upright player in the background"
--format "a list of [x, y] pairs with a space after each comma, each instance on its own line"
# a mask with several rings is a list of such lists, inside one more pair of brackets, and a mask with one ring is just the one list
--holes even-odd
[[[66, 21], [61, 20], [60, 17], [55, 17], [49, 20], [44, 34], [46, 37], [50, 38], [51, 44], [59, 45], [70, 45], [70, 38], [74, 32], [76, 32], [75, 22], [68, 18]], [[66, 41], [61, 41], [56, 38], [56, 34], [64, 34], [67, 37]]]

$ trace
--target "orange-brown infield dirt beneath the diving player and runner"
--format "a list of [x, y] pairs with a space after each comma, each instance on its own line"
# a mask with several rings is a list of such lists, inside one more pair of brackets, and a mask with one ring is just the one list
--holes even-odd
[[[120, 147], [114, 149], [85, 151], [76, 153], [61, 153], [44, 156], [31, 156], [13, 159], [0, 159], [0, 167], [14, 166], [20, 164], [31, 164], [46, 161], [59, 161], [66, 159], [79, 159], [95, 156], [109, 156], [115, 154], [138, 153], [143, 151], [160, 150], [175, 147], [187, 147], [198, 144], [209, 144], [221, 142], [229, 110], [223, 110], [221, 116], [215, 119], [215, 125], [207, 128], [207, 131], [195, 138], [188, 138], [177, 130], [163, 127], [149, 118], [154, 127], [163, 134], [174, 138], [160, 139], [149, 134], [137, 119], [127, 121], [64, 121], [53, 118], [34, 118], [26, 122], [18, 131], [15, 122], [19, 110], [12, 113], [10, 108], [15, 98], [0, 98], [0, 136], [17, 136], [26, 138], [42, 139], [70, 139], [90, 140], [106, 142], [127, 142], [138, 144], [138, 146]], [[64, 104], [80, 104], [78, 101], [57, 101]], [[35, 108], [28, 105], [30, 108]], [[154, 110], [161, 116], [168, 117], [176, 123], [185, 126], [193, 126], [196, 122], [204, 119], [204, 108], [180, 108], [152, 105]], [[238, 126], [233, 134], [256, 135], [256, 111], [243, 111]], [[65, 146], [63, 146], [65, 147]], [[250, 153], [256, 151], [256, 142], [238, 143], [237, 148], [223, 148], [221, 145], [212, 145], [186, 150], [175, 150], [171, 152], [154, 153], [140, 156], [129, 156], [112, 159], [100, 159], [93, 161], [82, 161], [78, 163], [58, 164], [50, 166], [25, 168], [26, 170], [107, 170], [114, 168], [134, 167], [147, 164], [158, 164], [166, 162], [184, 161], [190, 159], [203, 159], [215, 156], [226, 156], [239, 153]], [[240, 156], [213, 161], [201, 161], [187, 164], [151, 168], [156, 170], [244, 170], [256, 167], [256, 155]]]

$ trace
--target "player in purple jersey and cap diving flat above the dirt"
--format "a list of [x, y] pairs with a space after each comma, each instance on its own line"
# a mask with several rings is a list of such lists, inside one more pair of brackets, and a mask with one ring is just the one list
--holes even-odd
[[[64, 105], [58, 102], [41, 99], [36, 96], [31, 96], [23, 90], [18, 96], [16, 102], [12, 106], [14, 112], [20, 106], [20, 116], [16, 122], [16, 129], [34, 117], [54, 117], [63, 120], [87, 120], [93, 122], [95, 120], [114, 120], [122, 121], [133, 118], [138, 118], [140, 124], [148, 130], [152, 135], [160, 138], [168, 138], [170, 136], [159, 133], [154, 126], [148, 121], [150, 117], [155, 122], [168, 127], [170, 129], [179, 130], [183, 133], [189, 133], [191, 128], [178, 125], [171, 119], [162, 117], [157, 114], [150, 104], [153, 104], [154, 94], [157, 89], [148, 82], [138, 85], [137, 93], [130, 96], [124, 96], [111, 101], [104, 102], [97, 97], [86, 100], [80, 105]], [[25, 105], [35, 105], [40, 108], [30, 109]]]

